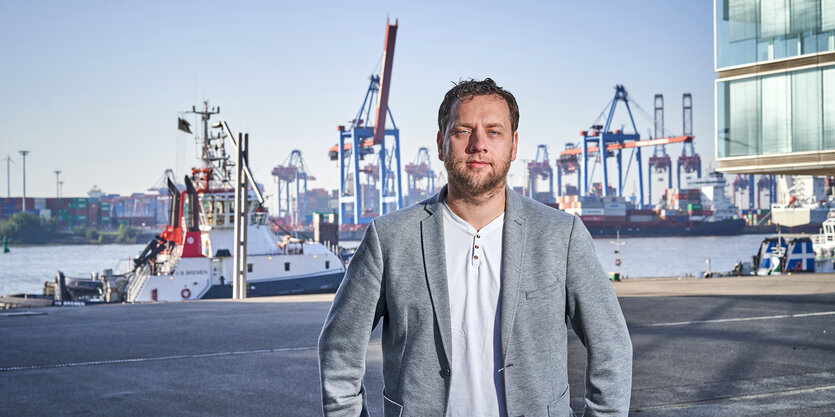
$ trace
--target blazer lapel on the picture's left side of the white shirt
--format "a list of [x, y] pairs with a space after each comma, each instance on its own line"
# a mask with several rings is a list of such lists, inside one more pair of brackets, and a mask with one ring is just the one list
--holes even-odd
[[443, 207], [441, 207], [444, 195], [446, 195], [446, 186], [426, 203], [424, 208], [430, 216], [421, 220], [420, 230], [426, 283], [429, 286], [435, 319], [438, 321], [438, 328], [441, 332], [441, 343], [449, 361], [452, 359], [452, 324], [449, 318], [449, 285], [446, 276], [444, 216]]

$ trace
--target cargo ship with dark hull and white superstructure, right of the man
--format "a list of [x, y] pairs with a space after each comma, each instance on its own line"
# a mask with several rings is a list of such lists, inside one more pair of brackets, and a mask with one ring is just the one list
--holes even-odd
[[560, 196], [551, 206], [579, 216], [594, 237], [731, 236], [745, 220], [725, 195], [720, 172], [691, 180], [688, 188], [670, 188], [653, 208], [638, 208], [619, 196]]

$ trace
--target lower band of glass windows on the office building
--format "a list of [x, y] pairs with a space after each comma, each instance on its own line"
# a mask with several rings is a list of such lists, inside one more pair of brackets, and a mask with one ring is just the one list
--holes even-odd
[[716, 83], [718, 158], [835, 150], [835, 66]]

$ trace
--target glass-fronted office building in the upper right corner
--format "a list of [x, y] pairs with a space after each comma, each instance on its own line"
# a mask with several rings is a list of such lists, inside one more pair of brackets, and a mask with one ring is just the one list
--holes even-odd
[[734, 173], [835, 173], [835, 0], [716, 0], [716, 157]]

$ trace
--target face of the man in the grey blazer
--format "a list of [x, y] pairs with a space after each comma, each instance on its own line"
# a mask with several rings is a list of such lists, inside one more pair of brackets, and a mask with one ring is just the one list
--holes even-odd
[[510, 162], [516, 160], [517, 141], [505, 100], [475, 96], [452, 105], [446, 132], [438, 132], [438, 158], [457, 191], [480, 196], [504, 187]]

